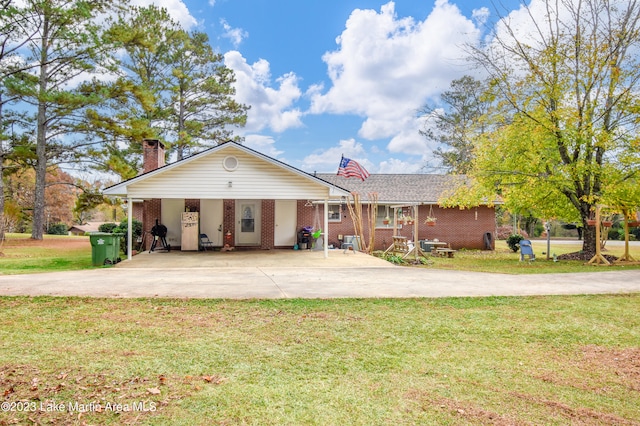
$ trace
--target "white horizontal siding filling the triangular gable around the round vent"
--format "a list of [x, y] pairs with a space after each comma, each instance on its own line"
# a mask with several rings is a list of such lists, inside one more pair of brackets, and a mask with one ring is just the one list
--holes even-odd
[[[222, 161], [238, 159], [234, 171]], [[128, 185], [133, 198], [324, 199], [329, 188], [244, 151], [229, 147]]]

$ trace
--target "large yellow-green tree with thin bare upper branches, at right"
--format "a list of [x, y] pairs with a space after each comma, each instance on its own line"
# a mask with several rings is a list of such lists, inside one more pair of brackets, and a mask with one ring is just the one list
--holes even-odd
[[[476, 201], [577, 221], [596, 204], [640, 205], [640, 5], [536, 0], [473, 50], [491, 77], [491, 132], [476, 140]], [[459, 194], [467, 197], [470, 192]]]

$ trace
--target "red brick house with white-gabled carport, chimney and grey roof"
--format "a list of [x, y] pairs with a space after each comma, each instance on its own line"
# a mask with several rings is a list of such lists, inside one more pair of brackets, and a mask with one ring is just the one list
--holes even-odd
[[[339, 247], [339, 236], [354, 234], [345, 207], [352, 191], [363, 198], [378, 193], [376, 248], [390, 243], [393, 230], [382, 220], [398, 205], [419, 206], [423, 219], [429, 211], [437, 217], [435, 227], [420, 225], [420, 239], [439, 238], [453, 248], [484, 248], [484, 234], [495, 234], [491, 207], [438, 207], [442, 191], [459, 184], [451, 176], [372, 175], [361, 182], [315, 175], [235, 142], [165, 165], [163, 144], [145, 140], [143, 156], [142, 174], [106, 188], [104, 194], [133, 205], [130, 215], [143, 223], [143, 231], [151, 231], [156, 221], [166, 226], [172, 248], [181, 245], [181, 217], [186, 211], [199, 213], [199, 232], [220, 247], [228, 243], [236, 248], [292, 248], [300, 230], [309, 226], [324, 230], [325, 246]], [[400, 232], [409, 231], [404, 227]]]

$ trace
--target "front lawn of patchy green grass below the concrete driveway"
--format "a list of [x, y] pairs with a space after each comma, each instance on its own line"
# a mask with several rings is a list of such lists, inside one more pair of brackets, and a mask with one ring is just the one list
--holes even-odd
[[0, 308], [2, 425], [640, 424], [640, 295]]

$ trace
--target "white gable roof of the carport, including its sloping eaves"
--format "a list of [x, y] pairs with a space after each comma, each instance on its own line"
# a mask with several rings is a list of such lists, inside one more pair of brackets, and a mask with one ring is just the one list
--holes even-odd
[[[228, 156], [240, 166], [223, 165]], [[134, 198], [339, 198], [349, 191], [229, 141], [103, 190]]]

